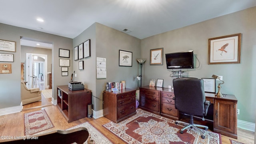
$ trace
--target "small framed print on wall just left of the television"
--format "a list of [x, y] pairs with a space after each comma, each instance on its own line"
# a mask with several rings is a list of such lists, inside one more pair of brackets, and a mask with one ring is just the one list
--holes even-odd
[[150, 50], [150, 65], [163, 65], [164, 48]]

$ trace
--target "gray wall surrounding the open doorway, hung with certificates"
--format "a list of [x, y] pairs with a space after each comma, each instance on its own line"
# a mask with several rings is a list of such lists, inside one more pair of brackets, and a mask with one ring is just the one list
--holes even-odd
[[[70, 80], [70, 74], [72, 73], [72, 64], [69, 67], [69, 76], [61, 76], [61, 67], [59, 66], [58, 49], [71, 50], [72, 60], [72, 39], [62, 36], [56, 36], [52, 34], [46, 34], [35, 30], [29, 30], [26, 28], [19, 28], [16, 26], [10, 26], [0, 23], [0, 39], [10, 40], [16, 42], [16, 52], [0, 51], [1, 53], [14, 54], [14, 62], [1, 62], [12, 64], [12, 74], [0, 74], [0, 109], [10, 108], [14, 106], [20, 106], [20, 62], [21, 62], [21, 49], [20, 38], [33, 38], [42, 40], [53, 44], [52, 50], [52, 72], [53, 72], [53, 88], [54, 99], [57, 98], [56, 86], [65, 85]], [[50, 61], [48, 61], [50, 62]], [[71, 61], [72, 62], [72, 61]]]

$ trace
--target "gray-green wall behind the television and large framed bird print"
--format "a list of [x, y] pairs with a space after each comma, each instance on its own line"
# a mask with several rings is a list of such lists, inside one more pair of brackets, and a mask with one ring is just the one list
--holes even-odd
[[[171, 70], [166, 69], [165, 54], [194, 50], [200, 67], [188, 70], [184, 76], [211, 78], [212, 74], [223, 76], [223, 94], [234, 94], [240, 109], [239, 120], [255, 122], [256, 110], [256, 7], [228, 14], [184, 28], [179, 28], [141, 40], [144, 64], [142, 85], [148, 85], [150, 78], [164, 79], [164, 87], [172, 85]], [[240, 64], [208, 64], [208, 39], [242, 33]], [[164, 64], [150, 65], [150, 49], [164, 48]], [[196, 61], [196, 67], [199, 66]], [[185, 69], [187, 70], [187, 69]], [[218, 81], [216, 81], [216, 88]], [[217, 92], [217, 90], [216, 90]]]

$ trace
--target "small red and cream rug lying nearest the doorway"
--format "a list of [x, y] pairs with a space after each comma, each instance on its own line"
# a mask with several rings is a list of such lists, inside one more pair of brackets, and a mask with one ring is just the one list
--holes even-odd
[[24, 135], [31, 135], [49, 128], [54, 128], [45, 110], [38, 110], [24, 114]]

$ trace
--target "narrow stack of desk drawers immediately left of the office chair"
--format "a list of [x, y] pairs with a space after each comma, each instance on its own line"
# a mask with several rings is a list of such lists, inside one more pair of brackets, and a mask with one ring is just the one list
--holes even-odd
[[161, 115], [178, 120], [178, 110], [175, 108], [174, 100], [174, 93], [173, 92], [166, 92], [162, 91], [162, 96], [161, 96]]

